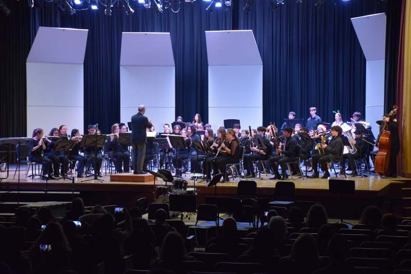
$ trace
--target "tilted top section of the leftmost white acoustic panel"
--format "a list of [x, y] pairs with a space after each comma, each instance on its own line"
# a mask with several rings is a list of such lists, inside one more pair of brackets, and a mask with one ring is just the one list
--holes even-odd
[[27, 62], [83, 64], [88, 30], [39, 27]]

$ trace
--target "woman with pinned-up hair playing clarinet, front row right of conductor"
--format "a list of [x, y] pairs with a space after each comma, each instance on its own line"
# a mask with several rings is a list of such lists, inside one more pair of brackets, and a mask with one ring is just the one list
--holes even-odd
[[221, 156], [217, 157], [216, 161], [213, 162], [214, 169], [218, 169], [222, 174], [224, 174], [224, 181], [228, 182], [228, 174], [226, 170], [227, 164], [238, 163], [241, 155], [240, 152], [240, 141], [233, 129], [228, 129], [226, 132], [226, 142], [223, 142], [220, 146]]

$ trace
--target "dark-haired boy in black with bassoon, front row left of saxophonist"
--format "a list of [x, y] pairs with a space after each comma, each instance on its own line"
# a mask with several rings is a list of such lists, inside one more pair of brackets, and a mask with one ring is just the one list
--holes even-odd
[[[271, 180], [287, 180], [287, 166], [286, 164], [292, 161], [295, 161], [297, 142], [294, 138], [291, 137], [293, 129], [291, 127], [285, 127], [283, 148], [276, 148], [278, 156], [271, 157], [269, 162], [274, 171], [274, 177], [270, 178]], [[278, 165], [281, 166], [282, 176], [278, 173]]]

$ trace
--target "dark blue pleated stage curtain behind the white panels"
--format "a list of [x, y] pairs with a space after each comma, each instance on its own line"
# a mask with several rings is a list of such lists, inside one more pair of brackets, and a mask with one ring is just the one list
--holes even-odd
[[[178, 13], [165, 10], [159, 15], [132, 1], [135, 13], [131, 16], [121, 9], [105, 16], [104, 8], [69, 16], [48, 3], [38, 10], [30, 9], [24, 1], [9, 1], [13, 13], [0, 15], [0, 114], [4, 118], [0, 136], [27, 135], [26, 58], [39, 26], [89, 30], [83, 74], [84, 125], [99, 123], [105, 133], [113, 123], [124, 122], [120, 121], [122, 32], [170, 32], [176, 73], [175, 114], [185, 121], [192, 121], [199, 112], [208, 122], [204, 33], [208, 30], [253, 30], [263, 61], [264, 124], [280, 124], [290, 110], [306, 119], [311, 106], [330, 122], [332, 110], [339, 109], [344, 120], [353, 111], [364, 112], [365, 58], [350, 18], [384, 12], [395, 1], [327, 0], [317, 7], [314, 0], [301, 4], [285, 1], [275, 10], [267, 1], [254, 1], [248, 13], [242, 9], [244, 2], [233, 1], [229, 12], [215, 8], [209, 13], [209, 3], [182, 1]], [[389, 16], [399, 14], [387, 16], [390, 22]], [[386, 95], [391, 96], [393, 92], [389, 92]]]

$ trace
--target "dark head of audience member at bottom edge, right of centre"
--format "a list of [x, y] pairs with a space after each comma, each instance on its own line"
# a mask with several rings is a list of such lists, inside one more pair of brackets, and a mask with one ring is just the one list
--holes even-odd
[[317, 244], [311, 234], [303, 233], [295, 240], [290, 258], [296, 262], [314, 262], [319, 259]]

